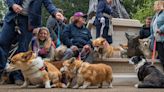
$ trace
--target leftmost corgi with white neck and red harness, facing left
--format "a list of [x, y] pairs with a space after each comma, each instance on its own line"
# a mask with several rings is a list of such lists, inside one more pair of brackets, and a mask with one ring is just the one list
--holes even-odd
[[[51, 63], [36, 56], [32, 51], [22, 52], [11, 58], [8, 70], [20, 69], [24, 76], [24, 84], [21, 88], [28, 87], [29, 84], [51, 87], [64, 87], [60, 82], [61, 72]], [[50, 85], [52, 83], [52, 85]]]

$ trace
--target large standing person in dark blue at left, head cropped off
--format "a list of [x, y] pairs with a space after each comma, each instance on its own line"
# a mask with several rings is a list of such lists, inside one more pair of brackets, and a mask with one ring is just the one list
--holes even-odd
[[[8, 12], [4, 18], [0, 35], [0, 75], [2, 74], [9, 55], [13, 40], [18, 42], [16, 53], [28, 51], [32, 39], [32, 30], [41, 27], [42, 4], [57, 20], [64, 20], [63, 15], [57, 11], [51, 0], [5, 0]], [[42, 54], [42, 52], [40, 52]], [[23, 83], [19, 71], [14, 71], [12, 80], [16, 84]]]

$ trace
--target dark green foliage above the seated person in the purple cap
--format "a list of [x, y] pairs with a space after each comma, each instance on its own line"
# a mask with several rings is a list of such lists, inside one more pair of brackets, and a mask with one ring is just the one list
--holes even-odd
[[[52, 0], [57, 8], [61, 8], [64, 11], [64, 16], [68, 19], [77, 11], [87, 13], [89, 0]], [[49, 13], [43, 8], [43, 25], [46, 24], [46, 20]]]

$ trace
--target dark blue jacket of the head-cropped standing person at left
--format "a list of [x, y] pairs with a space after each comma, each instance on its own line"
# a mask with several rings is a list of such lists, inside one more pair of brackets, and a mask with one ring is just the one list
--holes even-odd
[[[17, 16], [17, 14], [12, 9], [12, 5], [22, 5], [23, 0], [6, 0], [6, 3], [9, 7], [9, 11], [5, 16], [5, 21], [10, 22], [13, 18]], [[45, 8], [51, 15], [57, 12], [56, 7], [53, 5], [51, 0], [32, 0], [28, 9], [28, 19], [31, 28], [41, 26], [42, 4], [44, 4]]]

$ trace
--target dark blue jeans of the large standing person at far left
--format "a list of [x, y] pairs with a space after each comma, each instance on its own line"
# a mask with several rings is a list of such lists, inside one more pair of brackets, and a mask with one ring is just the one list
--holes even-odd
[[17, 20], [21, 34], [15, 31], [15, 19], [12, 19], [10, 22], [4, 21], [0, 35], [0, 69], [4, 69], [6, 66], [13, 40], [17, 39], [18, 41], [17, 53], [28, 50], [29, 42], [32, 38], [32, 32], [28, 31], [28, 17], [18, 15]]

